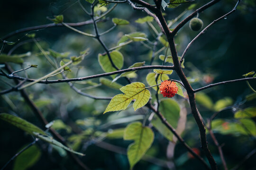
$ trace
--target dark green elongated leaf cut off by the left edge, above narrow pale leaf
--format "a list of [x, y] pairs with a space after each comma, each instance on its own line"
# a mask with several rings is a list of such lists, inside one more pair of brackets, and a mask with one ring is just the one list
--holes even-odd
[[17, 116], [13, 116], [7, 113], [1, 113], [0, 114], [0, 119], [7, 121], [8, 123], [12, 124], [13, 126], [16, 126], [25, 132], [34, 135], [33, 132], [38, 132], [41, 134], [46, 134], [42, 129], [39, 127], [33, 125], [32, 123], [29, 123], [28, 121], [21, 119]]

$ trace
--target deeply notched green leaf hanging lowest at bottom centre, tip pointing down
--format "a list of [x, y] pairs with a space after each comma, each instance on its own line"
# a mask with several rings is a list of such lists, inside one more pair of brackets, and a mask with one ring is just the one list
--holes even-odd
[[124, 140], [134, 140], [127, 150], [130, 170], [132, 170], [153, 143], [154, 133], [151, 128], [143, 127], [140, 122], [134, 122], [125, 128]]

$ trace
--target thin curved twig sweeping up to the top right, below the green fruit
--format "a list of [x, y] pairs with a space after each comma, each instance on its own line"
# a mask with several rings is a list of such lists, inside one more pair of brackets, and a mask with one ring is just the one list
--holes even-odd
[[186, 52], [188, 51], [188, 49], [190, 48], [191, 44], [197, 40], [202, 34], [204, 34], [208, 28], [210, 28], [210, 26], [214, 25], [215, 23], [217, 23], [219, 20], [223, 19], [223, 18], [226, 18], [227, 16], [229, 16], [230, 14], [232, 14], [233, 12], [236, 11], [236, 8], [239, 4], [240, 0], [238, 0], [236, 6], [230, 11], [228, 12], [227, 14], [223, 15], [222, 17], [219, 17], [218, 19], [214, 20], [212, 23], [210, 23], [208, 26], [206, 26], [189, 44], [188, 46], [186, 47], [186, 49], [184, 50], [183, 54], [182, 54], [182, 57], [180, 59], [180, 62], [182, 63], [183, 59], [184, 59], [184, 56], [186, 54]]

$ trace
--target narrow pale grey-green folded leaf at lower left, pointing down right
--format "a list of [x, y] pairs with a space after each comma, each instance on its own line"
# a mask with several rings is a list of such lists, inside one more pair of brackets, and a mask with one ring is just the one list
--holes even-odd
[[72, 153], [84, 156], [83, 153], [79, 153], [79, 152], [73, 151], [73, 149], [64, 146], [62, 143], [56, 141], [51, 136], [41, 135], [41, 134], [39, 134], [37, 132], [34, 132], [34, 136], [37, 136], [39, 139], [41, 139], [41, 140], [43, 140], [43, 141], [45, 141], [45, 142], [47, 142], [49, 144], [54, 144], [54, 145], [59, 146], [59, 147], [65, 149], [65, 150], [67, 150], [69, 152], [72, 152]]

